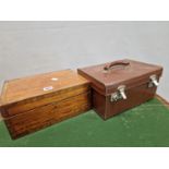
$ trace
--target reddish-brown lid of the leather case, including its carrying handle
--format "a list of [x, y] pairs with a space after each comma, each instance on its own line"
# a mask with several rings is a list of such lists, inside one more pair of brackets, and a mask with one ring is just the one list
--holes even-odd
[[131, 88], [149, 81], [149, 76], [161, 75], [162, 67], [129, 59], [77, 69], [77, 72], [92, 81], [92, 85], [102, 95], [110, 95], [118, 86]]

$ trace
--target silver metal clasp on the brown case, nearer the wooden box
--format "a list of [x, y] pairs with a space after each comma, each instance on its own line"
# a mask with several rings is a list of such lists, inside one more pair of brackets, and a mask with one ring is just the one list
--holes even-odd
[[126, 99], [124, 85], [119, 86], [118, 90], [111, 94], [110, 101], [117, 101], [119, 99]]

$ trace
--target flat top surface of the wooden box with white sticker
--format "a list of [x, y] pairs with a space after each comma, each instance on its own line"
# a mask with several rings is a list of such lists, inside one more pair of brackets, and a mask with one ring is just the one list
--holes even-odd
[[63, 70], [7, 81], [3, 85], [0, 106], [33, 99], [64, 88], [88, 83], [72, 70]]

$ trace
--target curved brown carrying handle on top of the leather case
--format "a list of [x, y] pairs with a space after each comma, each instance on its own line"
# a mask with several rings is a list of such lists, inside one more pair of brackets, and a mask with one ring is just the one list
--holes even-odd
[[104, 70], [105, 71], [109, 71], [109, 70], [111, 70], [111, 69], [113, 69], [113, 68], [119, 68], [119, 67], [126, 67], [126, 65], [129, 65], [130, 64], [130, 62], [129, 61], [124, 61], [124, 60], [118, 60], [118, 61], [114, 61], [114, 62], [111, 62], [110, 64], [108, 64], [108, 65], [105, 65], [104, 67]]

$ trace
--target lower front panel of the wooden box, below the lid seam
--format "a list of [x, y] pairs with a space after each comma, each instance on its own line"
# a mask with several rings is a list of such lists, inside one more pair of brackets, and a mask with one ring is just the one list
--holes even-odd
[[5, 120], [12, 138], [77, 116], [90, 109], [90, 92], [49, 104]]

